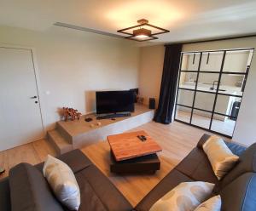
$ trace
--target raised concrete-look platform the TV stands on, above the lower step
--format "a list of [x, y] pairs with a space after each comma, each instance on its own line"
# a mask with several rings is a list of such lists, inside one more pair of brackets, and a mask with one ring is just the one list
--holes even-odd
[[[84, 121], [85, 117], [83, 116], [80, 120], [60, 121], [57, 123], [57, 129], [61, 130], [62, 136], [73, 144], [74, 149], [94, 144], [100, 140], [106, 140], [110, 134], [123, 133], [126, 130], [148, 123], [154, 117], [154, 110], [148, 109], [147, 106], [136, 105], [131, 117], [118, 117], [115, 120], [96, 120], [96, 114], [90, 114], [86, 117], [91, 117], [93, 121], [87, 123]], [[98, 126], [98, 122], [102, 125]], [[94, 127], [90, 127], [90, 124], [94, 124]]]

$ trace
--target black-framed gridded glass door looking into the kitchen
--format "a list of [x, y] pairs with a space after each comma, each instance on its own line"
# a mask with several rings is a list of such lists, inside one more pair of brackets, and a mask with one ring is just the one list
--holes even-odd
[[183, 52], [175, 120], [232, 137], [253, 48]]

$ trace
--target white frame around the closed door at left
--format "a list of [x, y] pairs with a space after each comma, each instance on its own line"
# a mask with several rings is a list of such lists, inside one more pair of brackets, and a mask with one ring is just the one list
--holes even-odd
[[[44, 103], [42, 103], [42, 88], [39, 80], [39, 68], [38, 68], [38, 61], [36, 57], [36, 49], [29, 46], [20, 46], [15, 44], [9, 44], [9, 43], [0, 43], [0, 48], [14, 48], [14, 49], [25, 49], [30, 50], [32, 54], [32, 63], [33, 63], [33, 69], [34, 69], [34, 75], [35, 75], [35, 81], [36, 81], [36, 87], [37, 87], [37, 93], [38, 93], [38, 104], [39, 104], [39, 111], [41, 116], [41, 123], [42, 123], [42, 131], [44, 136], [46, 135], [46, 128], [45, 128], [45, 110], [44, 110]], [[44, 137], [41, 137], [42, 139]]]

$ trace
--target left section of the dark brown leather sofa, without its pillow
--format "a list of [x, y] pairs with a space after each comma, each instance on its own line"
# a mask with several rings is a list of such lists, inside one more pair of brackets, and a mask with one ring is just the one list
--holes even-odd
[[[74, 150], [58, 157], [72, 168], [78, 181], [81, 205], [79, 211], [129, 211], [130, 202], [96, 168], [82, 151]], [[0, 210], [62, 211], [61, 206], [44, 179], [44, 163], [32, 166], [20, 163], [9, 172], [9, 178], [0, 182]]]

